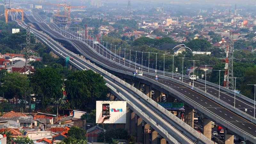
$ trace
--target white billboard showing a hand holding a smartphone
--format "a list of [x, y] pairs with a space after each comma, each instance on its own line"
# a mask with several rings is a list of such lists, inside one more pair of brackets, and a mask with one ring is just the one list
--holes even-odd
[[96, 101], [97, 124], [125, 124], [126, 101]]

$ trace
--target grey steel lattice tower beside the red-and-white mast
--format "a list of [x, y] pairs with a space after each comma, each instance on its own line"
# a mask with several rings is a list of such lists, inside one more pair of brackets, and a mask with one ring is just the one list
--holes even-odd
[[233, 53], [234, 53], [234, 34], [230, 33], [230, 42], [228, 48], [228, 84], [227, 88], [234, 89], [234, 74], [233, 74]]

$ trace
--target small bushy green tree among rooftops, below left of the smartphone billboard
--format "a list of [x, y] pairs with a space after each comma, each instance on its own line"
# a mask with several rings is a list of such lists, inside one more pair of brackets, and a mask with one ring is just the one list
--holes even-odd
[[76, 140], [84, 140], [85, 134], [86, 134], [85, 130], [77, 126], [73, 126], [68, 130], [68, 137], [75, 138]]

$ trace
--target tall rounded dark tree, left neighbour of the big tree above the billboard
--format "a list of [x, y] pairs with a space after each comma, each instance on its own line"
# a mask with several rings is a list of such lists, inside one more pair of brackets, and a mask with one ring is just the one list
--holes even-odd
[[62, 97], [63, 80], [57, 69], [39, 68], [32, 74], [30, 81], [37, 98], [42, 101], [42, 109], [45, 109], [52, 100]]

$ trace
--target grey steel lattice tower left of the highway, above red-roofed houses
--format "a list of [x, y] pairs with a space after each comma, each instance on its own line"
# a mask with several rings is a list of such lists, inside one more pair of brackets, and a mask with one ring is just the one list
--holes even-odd
[[26, 61], [25, 61], [25, 71], [29, 71], [30, 74], [30, 27], [27, 26], [27, 34], [26, 34]]

